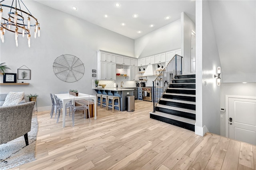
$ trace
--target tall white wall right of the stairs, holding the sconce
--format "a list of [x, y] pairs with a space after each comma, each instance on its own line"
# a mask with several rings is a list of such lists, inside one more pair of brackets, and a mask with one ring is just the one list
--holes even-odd
[[[202, 23], [201, 25], [197, 25], [202, 28], [202, 41], [200, 43], [196, 41], [196, 51], [198, 45], [200, 45], [199, 48], [202, 49], [202, 55], [198, 56], [198, 54], [196, 54], [196, 61], [202, 60], [202, 77], [198, 77], [200, 76], [200, 74], [198, 74], [198, 72], [200, 72], [198, 69], [200, 68], [197, 68], [198, 65], [196, 66], [196, 86], [202, 86], [200, 89], [196, 88], [196, 101], [199, 101], [196, 102], [196, 121], [202, 122], [201, 126], [198, 127], [198, 129], [201, 129], [201, 133], [203, 132], [202, 135], [204, 135], [206, 131], [220, 134], [220, 86], [216, 85], [216, 79], [214, 78], [217, 67], [221, 66], [218, 48], [208, 2], [198, 1], [196, 4], [198, 4], [196, 7], [201, 7], [200, 9], [202, 9], [201, 18], [196, 17], [196, 22], [199, 21]], [[197, 10], [199, 9], [197, 8]], [[196, 27], [196, 29], [196, 33], [198, 33], [198, 27]], [[196, 34], [196, 40], [198, 40], [197, 36], [198, 34]], [[207, 82], [207, 86], [204, 85], [205, 81]], [[199, 123], [200, 122], [197, 122], [196, 126], [198, 126]]]

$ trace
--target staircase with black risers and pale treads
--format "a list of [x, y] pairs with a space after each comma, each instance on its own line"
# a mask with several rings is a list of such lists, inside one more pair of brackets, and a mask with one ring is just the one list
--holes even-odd
[[195, 131], [196, 75], [176, 75], [150, 118]]

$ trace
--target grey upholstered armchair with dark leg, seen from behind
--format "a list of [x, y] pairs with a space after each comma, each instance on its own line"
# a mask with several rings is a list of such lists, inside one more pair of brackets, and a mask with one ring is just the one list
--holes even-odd
[[24, 135], [28, 145], [35, 102], [0, 107], [0, 145]]

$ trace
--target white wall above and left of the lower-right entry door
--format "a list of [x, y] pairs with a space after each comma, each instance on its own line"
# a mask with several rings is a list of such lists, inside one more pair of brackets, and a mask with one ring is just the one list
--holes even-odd
[[[254, 96], [256, 97], [256, 83], [221, 83], [220, 85], [220, 108], [225, 106], [225, 96]], [[226, 112], [220, 112], [223, 118], [220, 118], [220, 135], [226, 136], [225, 126], [228, 120], [225, 119]]]

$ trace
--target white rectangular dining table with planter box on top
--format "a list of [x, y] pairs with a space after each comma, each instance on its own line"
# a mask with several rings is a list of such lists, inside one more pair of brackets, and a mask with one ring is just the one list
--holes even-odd
[[96, 96], [93, 95], [89, 95], [89, 94], [83, 94], [83, 93], [78, 93], [78, 96], [73, 96], [69, 93], [64, 93], [64, 94], [55, 94], [57, 96], [57, 98], [59, 98], [62, 103], [63, 103], [63, 107], [62, 107], [62, 113], [63, 113], [63, 127], [65, 127], [65, 120], [66, 120], [66, 109], [65, 106], [68, 102], [72, 101], [72, 100], [82, 100], [82, 99], [92, 99], [94, 100], [94, 119], [97, 119], [97, 100], [96, 100]]

